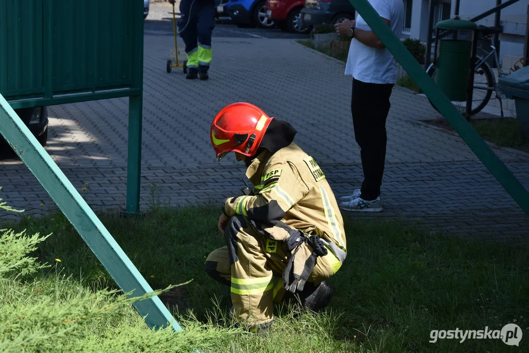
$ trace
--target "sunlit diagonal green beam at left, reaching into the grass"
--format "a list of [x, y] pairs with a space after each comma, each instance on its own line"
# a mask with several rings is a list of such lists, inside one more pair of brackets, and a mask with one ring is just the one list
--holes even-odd
[[[134, 291], [132, 297], [152, 293], [152, 288], [129, 257], [2, 95], [0, 95], [0, 134], [13, 147], [31, 173], [37, 177], [39, 183], [79, 232], [117, 285], [125, 293]], [[147, 316], [145, 322], [150, 328], [158, 329], [171, 325], [175, 331], [181, 330], [178, 322], [158, 296], [136, 302], [134, 306], [140, 315]]]

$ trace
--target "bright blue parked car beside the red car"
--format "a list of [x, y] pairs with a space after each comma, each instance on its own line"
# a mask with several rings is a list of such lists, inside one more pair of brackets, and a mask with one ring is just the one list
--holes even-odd
[[266, 16], [265, 0], [217, 0], [217, 17], [230, 19], [241, 28], [272, 28], [275, 23]]

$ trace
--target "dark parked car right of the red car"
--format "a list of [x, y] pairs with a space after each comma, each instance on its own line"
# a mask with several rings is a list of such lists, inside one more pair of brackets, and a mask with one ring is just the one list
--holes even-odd
[[305, 24], [316, 25], [354, 20], [356, 12], [349, 0], [306, 0], [301, 13]]

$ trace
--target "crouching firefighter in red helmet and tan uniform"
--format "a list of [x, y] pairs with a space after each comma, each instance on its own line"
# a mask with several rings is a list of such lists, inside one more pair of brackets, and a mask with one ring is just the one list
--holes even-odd
[[274, 302], [320, 310], [334, 294], [325, 279], [346, 256], [342, 216], [322, 169], [292, 142], [289, 123], [248, 103], [223, 108], [210, 134], [216, 157], [235, 152], [255, 188], [225, 201], [218, 228], [226, 246], [205, 264], [231, 287], [232, 315], [255, 331], [272, 324]]

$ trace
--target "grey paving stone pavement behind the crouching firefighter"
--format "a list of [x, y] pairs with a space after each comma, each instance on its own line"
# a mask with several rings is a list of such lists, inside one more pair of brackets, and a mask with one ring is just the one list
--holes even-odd
[[[322, 165], [337, 196], [360, 185], [351, 78], [342, 62], [287, 39], [214, 38], [210, 79], [202, 82], [186, 80], [179, 69], [166, 73], [172, 43], [168, 35], [145, 35], [142, 209], [218, 204], [239, 194], [244, 166], [234, 158], [216, 162], [209, 142], [215, 113], [237, 101], [293, 124], [295, 141]], [[426, 98], [395, 87], [391, 104], [386, 210], [353, 218], [403, 218], [463, 238], [529, 239], [529, 217], [462, 139], [422, 122], [440, 117]], [[95, 210], [125, 204], [127, 112], [127, 98], [49, 108], [46, 150]], [[494, 151], [529, 187], [529, 154]], [[0, 186], [0, 197], [25, 214], [54, 207], [20, 161], [0, 161]]]

